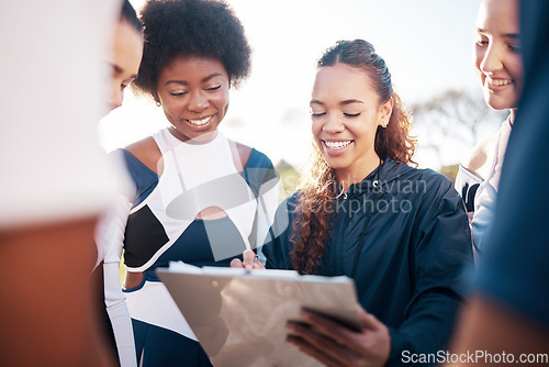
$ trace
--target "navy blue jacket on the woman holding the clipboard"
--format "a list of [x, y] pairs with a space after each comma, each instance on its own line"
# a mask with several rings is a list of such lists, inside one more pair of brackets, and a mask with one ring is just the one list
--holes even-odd
[[[264, 246], [268, 268], [292, 268], [289, 238], [298, 196], [278, 210], [274, 240]], [[402, 365], [404, 351], [446, 351], [463, 296], [463, 270], [472, 264], [467, 214], [451, 181], [386, 159], [335, 200], [317, 274], [355, 273], [360, 304], [390, 330], [389, 366]]]

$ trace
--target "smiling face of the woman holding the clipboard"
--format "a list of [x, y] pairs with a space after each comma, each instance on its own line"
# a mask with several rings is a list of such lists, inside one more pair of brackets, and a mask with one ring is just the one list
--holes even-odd
[[365, 71], [336, 64], [316, 74], [311, 110], [315, 143], [338, 181], [366, 178], [380, 162], [376, 132], [389, 121], [392, 99], [380, 104]]

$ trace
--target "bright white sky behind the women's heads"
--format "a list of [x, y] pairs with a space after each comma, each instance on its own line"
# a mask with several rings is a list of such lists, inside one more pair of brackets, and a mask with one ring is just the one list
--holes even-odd
[[[143, 0], [131, 0], [134, 7]], [[311, 149], [309, 101], [315, 63], [338, 40], [363, 38], [389, 66], [404, 104], [447, 89], [479, 96], [472, 52], [479, 0], [228, 0], [253, 48], [250, 77], [231, 90], [220, 129], [229, 138], [299, 168]], [[100, 124], [107, 151], [123, 147], [167, 125], [161, 109], [126, 90], [121, 108]], [[488, 134], [488, 133], [486, 133]], [[422, 152], [419, 166], [438, 165]], [[469, 146], [448, 142], [444, 164]], [[439, 168], [439, 167], [432, 167]]]

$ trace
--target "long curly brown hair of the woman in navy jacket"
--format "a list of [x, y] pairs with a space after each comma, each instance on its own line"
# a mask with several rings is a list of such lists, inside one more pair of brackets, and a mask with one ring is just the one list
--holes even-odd
[[[317, 67], [345, 64], [360, 69], [369, 76], [380, 103], [393, 99], [393, 110], [386, 127], [378, 126], [374, 149], [381, 159], [415, 165], [412, 157], [416, 141], [410, 136], [411, 116], [400, 97], [393, 90], [391, 74], [373, 46], [363, 41], [339, 41], [328, 48], [317, 62]], [[313, 144], [305, 173], [298, 188], [298, 204], [293, 225], [291, 253], [293, 268], [301, 274], [318, 270], [324, 256], [324, 244], [330, 230], [332, 213], [338, 196], [335, 170], [329, 167], [321, 151]]]

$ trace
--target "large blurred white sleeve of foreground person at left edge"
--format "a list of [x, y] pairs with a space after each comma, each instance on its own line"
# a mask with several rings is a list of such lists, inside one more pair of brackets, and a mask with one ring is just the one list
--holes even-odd
[[94, 215], [111, 200], [97, 124], [119, 4], [0, 2], [0, 229]]

